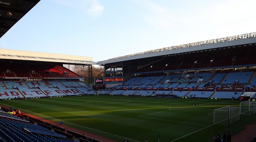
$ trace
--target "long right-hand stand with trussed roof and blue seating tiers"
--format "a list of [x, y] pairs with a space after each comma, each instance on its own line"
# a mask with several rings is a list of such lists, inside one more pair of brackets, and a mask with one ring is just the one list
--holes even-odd
[[[231, 99], [255, 91], [255, 47], [256, 33], [248, 33], [130, 54], [98, 64], [104, 66], [106, 89], [115, 89], [111, 93]], [[230, 94], [222, 97], [219, 91]], [[253, 95], [249, 94], [251, 98]]]

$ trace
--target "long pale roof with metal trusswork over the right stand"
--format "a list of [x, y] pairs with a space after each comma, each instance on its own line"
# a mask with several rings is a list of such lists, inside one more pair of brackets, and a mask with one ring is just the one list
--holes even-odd
[[168, 54], [207, 50], [207, 49], [222, 48], [222, 47], [236, 46], [236, 45], [245, 45], [245, 44], [251, 44], [251, 43], [256, 43], [256, 32], [130, 54], [130, 55], [116, 57], [116, 58], [112, 58], [104, 61], [99, 61], [98, 64], [108, 64], [108, 63], [122, 62], [122, 61], [134, 60], [134, 59], [163, 56]]

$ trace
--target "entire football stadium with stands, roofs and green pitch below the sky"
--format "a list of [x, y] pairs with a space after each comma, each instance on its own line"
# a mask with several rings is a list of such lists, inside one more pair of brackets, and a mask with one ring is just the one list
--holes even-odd
[[[39, 1], [0, 1], [0, 37]], [[255, 48], [256, 32], [99, 62], [0, 49], [0, 142], [253, 142]]]

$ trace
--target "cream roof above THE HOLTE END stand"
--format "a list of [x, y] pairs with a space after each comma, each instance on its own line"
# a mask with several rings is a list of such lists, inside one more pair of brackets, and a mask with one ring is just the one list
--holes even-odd
[[31, 52], [20, 50], [0, 49], [0, 59], [59, 62], [64, 64], [97, 64], [92, 57], [72, 56], [43, 52]]

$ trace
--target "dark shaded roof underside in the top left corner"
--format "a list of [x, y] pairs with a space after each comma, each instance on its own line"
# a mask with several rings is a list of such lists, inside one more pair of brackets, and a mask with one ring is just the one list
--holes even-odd
[[40, 0], [0, 0], [0, 38]]

